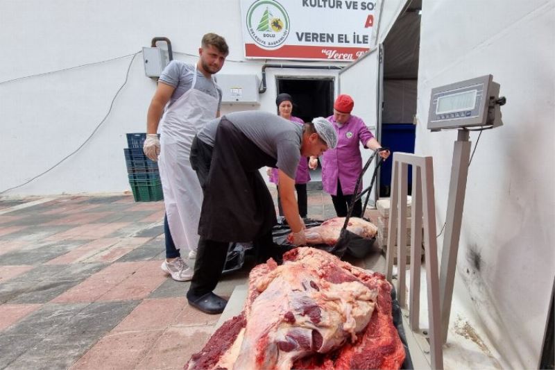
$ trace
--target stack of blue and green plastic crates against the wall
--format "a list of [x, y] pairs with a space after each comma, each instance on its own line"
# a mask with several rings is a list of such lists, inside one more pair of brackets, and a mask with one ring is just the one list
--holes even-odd
[[129, 148], [123, 149], [126, 156], [129, 185], [136, 202], [160, 201], [164, 199], [158, 163], [143, 153], [146, 133], [128, 133]]

